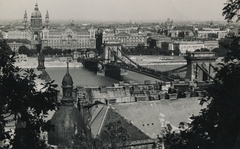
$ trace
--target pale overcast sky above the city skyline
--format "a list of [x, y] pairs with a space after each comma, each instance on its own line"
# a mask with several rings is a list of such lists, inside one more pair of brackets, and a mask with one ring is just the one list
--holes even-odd
[[28, 19], [36, 2], [43, 19], [90, 21], [223, 21], [222, 8], [227, 0], [0, 0], [0, 20]]

